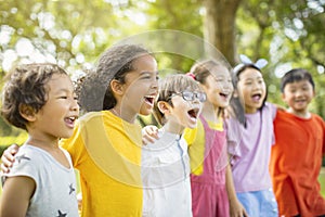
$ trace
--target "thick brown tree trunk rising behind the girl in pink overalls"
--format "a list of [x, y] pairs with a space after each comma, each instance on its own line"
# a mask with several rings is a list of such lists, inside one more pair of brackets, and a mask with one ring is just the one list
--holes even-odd
[[[205, 40], [214, 46], [231, 65], [235, 64], [235, 14], [242, 0], [205, 0]], [[214, 55], [210, 49], [206, 50]]]

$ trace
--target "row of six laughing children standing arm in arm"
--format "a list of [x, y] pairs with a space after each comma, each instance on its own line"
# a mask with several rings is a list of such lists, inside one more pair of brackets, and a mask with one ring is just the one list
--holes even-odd
[[[22, 65], [8, 79], [1, 114], [29, 138], [2, 156], [0, 216], [78, 216], [73, 167], [81, 216], [325, 216], [325, 124], [308, 111], [307, 71], [283, 77], [285, 111], [265, 102], [260, 64], [233, 76], [206, 60], [158, 84], [152, 53], [115, 46], [80, 82], [76, 123], [58, 66]], [[153, 111], [162, 127], [141, 129], [136, 116]]]

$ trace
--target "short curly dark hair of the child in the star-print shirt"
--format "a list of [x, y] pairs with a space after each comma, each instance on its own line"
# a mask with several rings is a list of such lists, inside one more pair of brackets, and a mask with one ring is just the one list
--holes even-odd
[[26, 129], [28, 123], [21, 115], [22, 105], [35, 113], [40, 111], [48, 100], [46, 85], [54, 74], [67, 75], [60, 66], [51, 63], [24, 64], [13, 68], [5, 77], [2, 89], [1, 115], [15, 127]]

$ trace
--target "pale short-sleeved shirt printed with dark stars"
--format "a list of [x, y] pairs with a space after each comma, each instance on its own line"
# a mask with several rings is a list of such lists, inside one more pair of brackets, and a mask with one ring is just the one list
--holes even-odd
[[26, 216], [79, 216], [75, 170], [70, 155], [67, 151], [62, 151], [70, 168], [64, 167], [44, 150], [28, 144], [21, 146], [15, 155], [13, 167], [5, 177], [26, 176], [36, 183]]

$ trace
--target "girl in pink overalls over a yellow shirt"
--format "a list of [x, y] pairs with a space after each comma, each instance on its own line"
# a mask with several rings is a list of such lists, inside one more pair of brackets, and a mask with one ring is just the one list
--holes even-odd
[[[184, 131], [191, 159], [193, 216], [247, 216], [235, 194], [223, 127], [223, 110], [233, 93], [231, 73], [222, 63], [205, 60], [187, 75], [207, 95], [197, 127]], [[153, 126], [143, 132], [147, 141], [158, 138]]]

